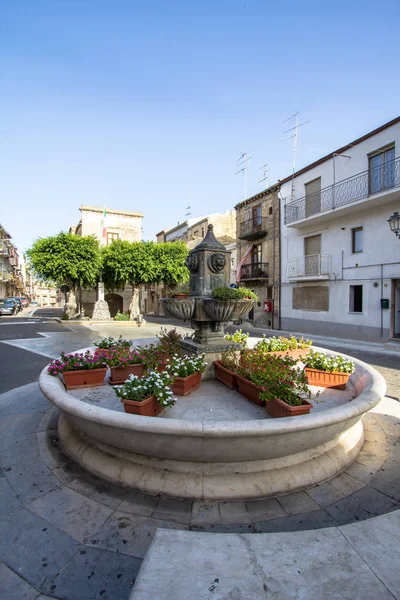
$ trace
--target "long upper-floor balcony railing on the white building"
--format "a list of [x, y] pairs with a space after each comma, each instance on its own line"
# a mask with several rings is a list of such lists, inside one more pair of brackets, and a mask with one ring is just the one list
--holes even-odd
[[290, 202], [285, 206], [285, 223], [290, 225], [397, 187], [400, 187], [400, 157]]

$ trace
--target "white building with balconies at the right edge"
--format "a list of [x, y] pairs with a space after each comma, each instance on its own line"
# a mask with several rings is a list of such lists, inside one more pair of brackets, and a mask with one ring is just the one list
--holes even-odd
[[281, 182], [281, 329], [400, 337], [400, 117]]

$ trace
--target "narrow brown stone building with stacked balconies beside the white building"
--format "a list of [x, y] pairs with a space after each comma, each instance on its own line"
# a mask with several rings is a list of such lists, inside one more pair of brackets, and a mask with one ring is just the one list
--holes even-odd
[[235, 209], [237, 283], [258, 296], [247, 320], [256, 327], [279, 329], [279, 186], [272, 186], [240, 202]]

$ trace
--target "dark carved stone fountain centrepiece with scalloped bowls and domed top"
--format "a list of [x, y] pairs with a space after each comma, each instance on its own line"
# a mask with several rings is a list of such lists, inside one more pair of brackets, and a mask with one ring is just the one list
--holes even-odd
[[234, 347], [224, 338], [224, 324], [239, 319], [247, 314], [252, 300], [215, 300], [211, 292], [217, 287], [229, 287], [230, 284], [230, 252], [214, 235], [213, 226], [209, 225], [203, 241], [196, 246], [186, 259], [190, 271], [190, 294], [186, 299], [163, 298], [165, 310], [184, 321], [190, 320], [194, 329], [193, 339], [179, 343], [187, 354], [206, 354], [209, 368], [203, 378], [213, 378], [214, 360], [221, 357], [221, 352]]

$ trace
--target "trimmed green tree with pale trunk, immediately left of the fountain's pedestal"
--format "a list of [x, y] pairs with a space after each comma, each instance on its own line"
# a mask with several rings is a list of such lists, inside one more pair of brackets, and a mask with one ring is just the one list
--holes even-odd
[[140, 315], [139, 288], [165, 283], [176, 285], [188, 278], [185, 260], [188, 250], [183, 242], [126, 242], [115, 240], [101, 249], [103, 281], [107, 289], [132, 287], [129, 307], [131, 321]]

